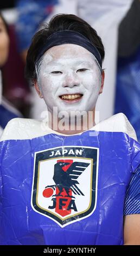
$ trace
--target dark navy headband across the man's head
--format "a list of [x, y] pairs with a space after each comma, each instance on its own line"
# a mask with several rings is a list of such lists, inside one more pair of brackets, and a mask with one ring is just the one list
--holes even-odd
[[63, 45], [63, 44], [80, 45], [86, 48], [89, 52], [91, 52], [96, 57], [99, 63], [99, 66], [101, 68], [101, 56], [96, 46], [94, 46], [90, 42], [90, 40], [85, 38], [84, 35], [75, 31], [58, 31], [50, 35], [46, 40], [46, 44], [42, 45], [41, 51], [37, 56], [36, 62], [40, 60], [44, 52], [46, 52], [49, 48], [56, 45]]

